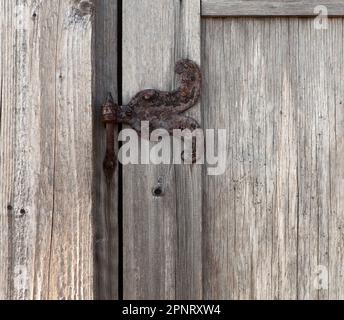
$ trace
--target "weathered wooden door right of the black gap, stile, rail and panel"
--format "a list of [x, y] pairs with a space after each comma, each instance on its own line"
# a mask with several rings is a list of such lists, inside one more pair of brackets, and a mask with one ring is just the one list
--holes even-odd
[[123, 167], [124, 298], [344, 297], [341, 16], [336, 0], [123, 2], [123, 99], [173, 88], [190, 58], [190, 114], [227, 130], [223, 175]]

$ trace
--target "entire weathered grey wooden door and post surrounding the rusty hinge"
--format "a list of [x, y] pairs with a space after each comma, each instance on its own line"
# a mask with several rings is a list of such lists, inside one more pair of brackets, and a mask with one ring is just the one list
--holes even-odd
[[[343, 299], [343, 17], [342, 0], [0, 0], [0, 299]], [[181, 58], [225, 172], [106, 180], [106, 93], [172, 90]]]

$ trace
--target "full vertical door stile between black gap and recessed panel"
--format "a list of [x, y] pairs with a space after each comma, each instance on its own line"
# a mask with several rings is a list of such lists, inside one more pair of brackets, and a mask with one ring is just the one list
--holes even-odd
[[[200, 2], [123, 1], [123, 57], [124, 103], [171, 90], [178, 59], [200, 62]], [[199, 106], [190, 114], [200, 120]], [[201, 182], [199, 166], [123, 167], [124, 298], [202, 297]]]

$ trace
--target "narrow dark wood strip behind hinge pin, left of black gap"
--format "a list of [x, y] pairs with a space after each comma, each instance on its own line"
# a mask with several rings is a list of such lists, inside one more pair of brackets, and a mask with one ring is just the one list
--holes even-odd
[[[118, 166], [104, 177], [105, 130], [100, 121], [107, 92], [117, 99], [117, 0], [97, 1], [95, 20], [95, 297], [118, 298]], [[115, 132], [115, 141], [117, 133]], [[117, 147], [117, 145], [115, 146]]]

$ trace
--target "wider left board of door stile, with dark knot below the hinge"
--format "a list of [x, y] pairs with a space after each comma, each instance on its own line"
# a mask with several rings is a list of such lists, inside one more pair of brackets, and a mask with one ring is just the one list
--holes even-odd
[[[174, 5], [123, 1], [123, 103], [145, 87], [172, 87]], [[158, 180], [165, 196], [155, 198]], [[174, 189], [172, 166], [123, 167], [124, 299], [175, 298]]]

